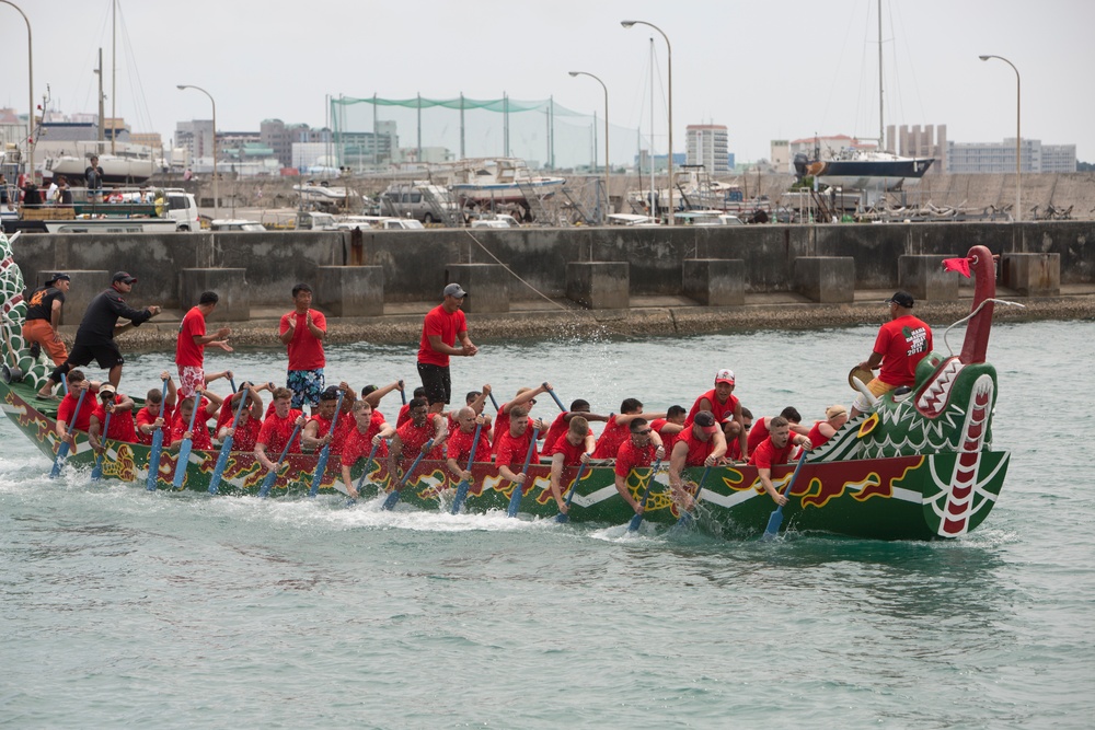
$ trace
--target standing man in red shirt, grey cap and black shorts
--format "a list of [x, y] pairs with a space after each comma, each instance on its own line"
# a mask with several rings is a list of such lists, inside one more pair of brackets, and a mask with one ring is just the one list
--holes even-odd
[[[418, 344], [418, 375], [426, 391], [429, 410], [439, 414], [452, 395], [449, 357], [473, 357], [479, 348], [468, 336], [468, 320], [460, 308], [468, 292], [459, 283], [450, 283], [441, 292], [440, 304], [426, 314]], [[460, 347], [456, 347], [457, 340]]]

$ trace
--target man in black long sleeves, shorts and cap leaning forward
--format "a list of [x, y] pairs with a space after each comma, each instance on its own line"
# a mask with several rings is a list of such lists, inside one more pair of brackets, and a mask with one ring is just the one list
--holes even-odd
[[[132, 291], [137, 277], [128, 271], [117, 271], [111, 279], [111, 287], [91, 300], [88, 311], [83, 314], [80, 327], [76, 332], [76, 343], [65, 362], [57, 366], [45, 385], [38, 391], [39, 398], [53, 397], [53, 390], [61, 382], [65, 374], [72, 368], [80, 368], [92, 360], [100, 368], [110, 370], [110, 381], [115, 387], [122, 382], [122, 364], [125, 359], [118, 350], [114, 336], [129, 327], [139, 327], [160, 313], [155, 304], [142, 310], [135, 310], [126, 304], [123, 294]], [[119, 325], [118, 320], [129, 320], [128, 324]]]

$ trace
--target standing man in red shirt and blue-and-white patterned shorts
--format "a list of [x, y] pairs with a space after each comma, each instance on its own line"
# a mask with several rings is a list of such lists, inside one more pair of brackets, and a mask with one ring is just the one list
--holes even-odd
[[279, 337], [289, 351], [286, 387], [292, 391], [292, 407], [313, 409], [320, 405], [323, 392], [323, 340], [327, 336], [327, 318], [312, 308], [312, 288], [298, 283], [292, 288], [293, 311], [281, 315]]

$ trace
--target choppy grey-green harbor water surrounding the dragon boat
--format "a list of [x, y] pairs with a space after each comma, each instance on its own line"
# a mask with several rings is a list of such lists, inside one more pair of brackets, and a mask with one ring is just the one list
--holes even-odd
[[[549, 380], [595, 410], [629, 396], [664, 409], [729, 367], [756, 414], [814, 420], [851, 401], [874, 333], [483, 343], [453, 361], [454, 390], [491, 382], [503, 401]], [[979, 531], [938, 543], [626, 535], [51, 482], [4, 418], [0, 725], [1090, 728], [1093, 343], [1093, 322], [994, 328], [1008, 478]], [[170, 360], [131, 357], [123, 391]], [[208, 366], [284, 380], [278, 352]], [[414, 347], [330, 348], [327, 376], [414, 382]], [[555, 412], [544, 398], [533, 413]]]

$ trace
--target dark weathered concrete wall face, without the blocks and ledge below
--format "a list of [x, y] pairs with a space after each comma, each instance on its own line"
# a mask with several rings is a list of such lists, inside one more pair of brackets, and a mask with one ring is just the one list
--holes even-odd
[[[590, 259], [626, 262], [633, 296], [681, 293], [685, 258], [741, 259], [746, 292], [761, 293], [792, 291], [800, 256], [850, 256], [857, 289], [894, 289], [901, 255], [960, 256], [975, 244], [994, 254], [1060, 254], [1062, 285], [1095, 282], [1092, 221], [372, 231], [362, 236], [361, 264], [381, 267], [389, 302], [436, 300], [450, 264], [498, 262], [563, 298], [567, 263]], [[126, 269], [140, 279], [134, 301], [171, 308], [191, 304], [178, 301], [182, 268], [246, 269], [251, 305], [261, 308], [284, 304], [315, 267], [351, 256], [341, 232], [24, 234], [15, 248], [27, 281], [43, 270]], [[510, 297], [534, 294], [514, 280]]]

